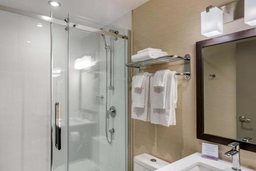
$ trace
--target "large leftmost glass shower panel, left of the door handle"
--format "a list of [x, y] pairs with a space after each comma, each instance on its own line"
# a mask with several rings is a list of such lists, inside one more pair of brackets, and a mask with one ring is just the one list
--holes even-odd
[[50, 23], [5, 11], [0, 22], [0, 170], [49, 170]]

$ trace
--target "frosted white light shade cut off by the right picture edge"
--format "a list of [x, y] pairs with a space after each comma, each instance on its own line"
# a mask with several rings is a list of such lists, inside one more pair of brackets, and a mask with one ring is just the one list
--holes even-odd
[[256, 25], [256, 1], [245, 0], [244, 2], [244, 23], [249, 26]]

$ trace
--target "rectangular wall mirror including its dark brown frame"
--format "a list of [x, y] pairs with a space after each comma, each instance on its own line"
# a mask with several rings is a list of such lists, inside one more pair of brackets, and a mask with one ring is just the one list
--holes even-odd
[[256, 152], [256, 29], [197, 42], [197, 137]]

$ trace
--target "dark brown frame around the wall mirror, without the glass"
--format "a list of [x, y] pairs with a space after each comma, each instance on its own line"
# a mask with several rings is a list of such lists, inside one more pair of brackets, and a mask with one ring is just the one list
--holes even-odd
[[203, 84], [203, 48], [223, 44], [225, 42], [241, 40], [256, 36], [256, 28], [231, 33], [215, 38], [210, 38], [196, 42], [196, 70], [197, 70], [197, 138], [210, 142], [227, 145], [231, 142], [240, 143], [240, 148], [247, 151], [256, 152], [256, 144], [240, 140], [220, 137], [204, 133], [204, 84]]

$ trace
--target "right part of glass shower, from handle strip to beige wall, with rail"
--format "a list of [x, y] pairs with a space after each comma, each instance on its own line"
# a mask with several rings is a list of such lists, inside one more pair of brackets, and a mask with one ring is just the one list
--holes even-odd
[[82, 17], [66, 20], [66, 27], [52, 24], [53, 139], [59, 142], [53, 170], [126, 170], [127, 37], [115, 35], [127, 31]]

